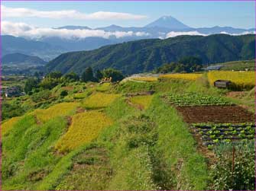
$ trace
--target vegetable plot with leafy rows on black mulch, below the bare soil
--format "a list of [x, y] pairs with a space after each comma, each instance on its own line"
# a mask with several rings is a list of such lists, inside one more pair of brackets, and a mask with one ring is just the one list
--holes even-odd
[[254, 139], [254, 124], [193, 124], [193, 133], [198, 133], [203, 141], [203, 145], [211, 145], [219, 142], [237, 142], [241, 140]]

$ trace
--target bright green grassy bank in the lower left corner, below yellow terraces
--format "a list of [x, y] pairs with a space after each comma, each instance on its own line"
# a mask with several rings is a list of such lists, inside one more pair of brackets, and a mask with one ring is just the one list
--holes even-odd
[[37, 125], [34, 116], [24, 116], [2, 138], [3, 189], [34, 189], [53, 169], [60, 157], [53, 145], [66, 129], [61, 117]]

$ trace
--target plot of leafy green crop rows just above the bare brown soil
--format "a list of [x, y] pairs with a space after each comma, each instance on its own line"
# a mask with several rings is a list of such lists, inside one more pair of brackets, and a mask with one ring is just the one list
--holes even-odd
[[232, 105], [231, 102], [222, 97], [214, 97], [211, 95], [186, 93], [186, 94], [167, 94], [166, 99], [169, 103], [183, 107], [183, 106], [224, 106]]

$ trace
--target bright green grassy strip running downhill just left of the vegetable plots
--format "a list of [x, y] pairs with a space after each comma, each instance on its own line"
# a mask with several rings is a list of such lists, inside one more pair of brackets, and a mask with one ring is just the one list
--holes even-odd
[[[171, 189], [206, 189], [206, 160], [197, 153], [196, 142], [177, 111], [155, 97], [147, 113], [158, 126], [156, 150], [162, 156], [160, 162], [166, 165], [163, 170], [168, 173], [175, 169], [175, 180], [172, 180], [175, 184]], [[172, 174], [169, 178], [173, 179]]]

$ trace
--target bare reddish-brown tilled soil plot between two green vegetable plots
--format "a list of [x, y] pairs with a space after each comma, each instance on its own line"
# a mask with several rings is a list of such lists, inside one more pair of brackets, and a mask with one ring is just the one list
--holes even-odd
[[186, 123], [254, 123], [253, 113], [239, 106], [177, 107]]

